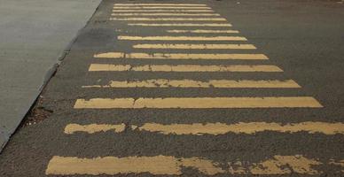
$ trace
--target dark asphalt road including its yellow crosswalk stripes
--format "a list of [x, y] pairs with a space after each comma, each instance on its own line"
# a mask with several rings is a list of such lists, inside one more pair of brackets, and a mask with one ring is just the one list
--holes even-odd
[[133, 3], [103, 1], [1, 176], [344, 175], [343, 4]]

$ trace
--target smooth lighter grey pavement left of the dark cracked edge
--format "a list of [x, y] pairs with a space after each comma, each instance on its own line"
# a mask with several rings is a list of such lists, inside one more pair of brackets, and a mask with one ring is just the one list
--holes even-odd
[[0, 150], [99, 3], [0, 1]]

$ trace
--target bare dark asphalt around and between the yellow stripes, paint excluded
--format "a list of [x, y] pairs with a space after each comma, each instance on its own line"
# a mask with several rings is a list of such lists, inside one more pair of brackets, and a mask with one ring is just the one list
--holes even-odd
[[[238, 123], [265, 121], [296, 123], [304, 121], [344, 122], [344, 4], [326, 1], [152, 1], [151, 3], [201, 3], [220, 13], [239, 30], [246, 43], [270, 59], [239, 60], [149, 60], [97, 59], [100, 52], [146, 52], [134, 50], [133, 42], [116, 41], [117, 35], [166, 35], [170, 27], [128, 27], [127, 21], [109, 21], [114, 3], [139, 1], [103, 1], [64, 59], [59, 71], [46, 87], [42, 103], [53, 111], [48, 119], [21, 127], [0, 155], [0, 176], [45, 176], [49, 160], [61, 157], [129, 157], [173, 156], [207, 158], [216, 162], [261, 162], [275, 155], [302, 155], [321, 162], [344, 159], [344, 135], [285, 134], [261, 132], [255, 135], [160, 135], [126, 130], [93, 135], [66, 135], [67, 124], [142, 125], [146, 122], [172, 123]], [[140, 2], [141, 3], [141, 2]], [[145, 2], [149, 3], [149, 2]], [[189, 27], [190, 29], [192, 27]], [[199, 28], [199, 27], [193, 27]], [[210, 28], [210, 27], [209, 27]], [[115, 31], [121, 29], [121, 32]], [[178, 35], [178, 34], [176, 34]], [[224, 43], [224, 42], [213, 42]], [[235, 42], [233, 42], [235, 43]], [[241, 42], [242, 43], [242, 42]], [[149, 50], [176, 52], [176, 50]], [[191, 52], [178, 50], [178, 52]], [[195, 52], [195, 51], [193, 51]], [[202, 51], [207, 53], [208, 51]], [[231, 53], [212, 50], [211, 53]], [[240, 51], [241, 52], [241, 51]], [[242, 52], [241, 52], [242, 53]], [[196, 65], [278, 65], [284, 73], [149, 73], [88, 72], [91, 63], [104, 64], [196, 64]], [[108, 81], [146, 79], [293, 79], [301, 89], [82, 89], [83, 85], [106, 84]], [[74, 110], [75, 100], [94, 97], [225, 97], [225, 96], [313, 96], [324, 108], [285, 109], [110, 109]], [[322, 176], [343, 176], [344, 167], [317, 166]], [[53, 175], [50, 175], [53, 176]], [[76, 175], [77, 176], [77, 175]], [[87, 175], [80, 175], [87, 176]], [[106, 176], [106, 175], [100, 175]], [[149, 173], [116, 176], [151, 176]], [[162, 175], [164, 176], [164, 175]], [[183, 176], [204, 176], [194, 169], [184, 169]], [[218, 174], [216, 176], [229, 176]], [[235, 175], [240, 176], [240, 175]], [[242, 175], [246, 176], [246, 175]], [[267, 175], [274, 176], [274, 175]], [[281, 176], [308, 176], [291, 173]]]

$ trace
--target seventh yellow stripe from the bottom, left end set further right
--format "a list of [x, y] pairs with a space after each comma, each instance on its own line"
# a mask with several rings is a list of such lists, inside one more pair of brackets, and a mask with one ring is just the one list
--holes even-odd
[[135, 44], [135, 49], [177, 49], [177, 50], [255, 50], [251, 44]]

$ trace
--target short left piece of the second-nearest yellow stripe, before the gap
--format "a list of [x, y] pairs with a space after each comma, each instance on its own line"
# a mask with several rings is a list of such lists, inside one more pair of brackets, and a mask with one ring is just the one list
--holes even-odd
[[90, 124], [90, 125], [79, 125], [79, 124], [68, 124], [65, 127], [65, 134], [74, 134], [75, 132], [86, 132], [94, 134], [98, 132], [106, 132], [112, 130], [115, 133], [121, 133], [125, 130], [125, 124], [109, 125], [109, 124]]

